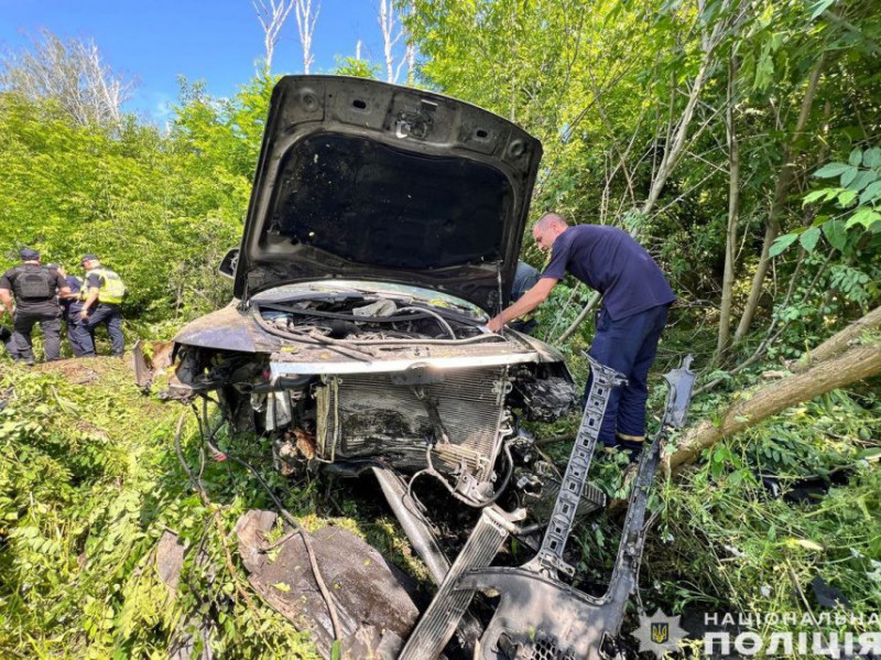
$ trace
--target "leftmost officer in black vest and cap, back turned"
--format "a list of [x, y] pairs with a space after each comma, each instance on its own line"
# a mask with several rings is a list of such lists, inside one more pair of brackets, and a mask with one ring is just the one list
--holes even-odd
[[[29, 248], [20, 252], [21, 264], [0, 278], [0, 317], [12, 316], [13, 358], [34, 364], [31, 332], [39, 323], [43, 331], [46, 361], [61, 357], [61, 310], [56, 295], [68, 295], [70, 289], [57, 272], [51, 273], [40, 264], [40, 252]], [[14, 305], [13, 305], [14, 297]]]

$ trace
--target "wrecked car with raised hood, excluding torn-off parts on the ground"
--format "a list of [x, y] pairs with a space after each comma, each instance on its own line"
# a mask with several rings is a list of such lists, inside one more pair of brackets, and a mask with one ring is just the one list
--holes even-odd
[[465, 499], [493, 497], [514, 411], [550, 421], [577, 397], [555, 349], [483, 327], [508, 302], [540, 158], [461, 101], [283, 78], [236, 300], [175, 337], [177, 396], [216, 391], [285, 469], [427, 462]]

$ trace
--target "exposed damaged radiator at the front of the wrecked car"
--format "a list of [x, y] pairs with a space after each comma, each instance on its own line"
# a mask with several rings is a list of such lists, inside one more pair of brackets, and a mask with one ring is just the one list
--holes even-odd
[[433, 379], [443, 381], [400, 385], [401, 377], [391, 374], [328, 378], [316, 393], [319, 456], [383, 455], [398, 468], [425, 467], [425, 442], [436, 433], [426, 403], [413, 389], [420, 387], [437, 407], [449, 439], [449, 444], [435, 445], [435, 467], [450, 472], [465, 463], [478, 480], [486, 480], [509, 387], [505, 369], [457, 369]]

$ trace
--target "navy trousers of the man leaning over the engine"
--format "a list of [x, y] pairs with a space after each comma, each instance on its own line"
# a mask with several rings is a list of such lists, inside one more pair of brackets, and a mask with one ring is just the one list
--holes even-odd
[[[606, 446], [616, 444], [631, 451], [642, 448], [635, 439], [645, 436], [645, 402], [649, 399], [649, 369], [657, 355], [657, 340], [667, 321], [670, 305], [650, 307], [627, 318], [612, 321], [606, 310], [597, 317], [597, 332], [590, 357], [623, 374], [628, 383], [609, 396], [599, 440]], [[585, 388], [585, 400], [591, 378]], [[616, 435], [620, 437], [616, 439]]]

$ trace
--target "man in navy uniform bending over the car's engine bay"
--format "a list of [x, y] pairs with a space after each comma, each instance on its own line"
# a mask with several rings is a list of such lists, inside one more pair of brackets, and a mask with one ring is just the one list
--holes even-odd
[[[602, 294], [590, 357], [627, 376], [628, 385], [609, 398], [599, 439], [621, 446], [635, 458], [645, 440], [649, 369], [676, 296], [654, 259], [627, 231], [617, 227], [569, 227], [547, 213], [533, 227], [539, 247], [551, 260], [539, 282], [487, 324], [499, 332], [507, 323], [542, 304], [568, 271]], [[588, 379], [585, 393], [590, 387]]]

